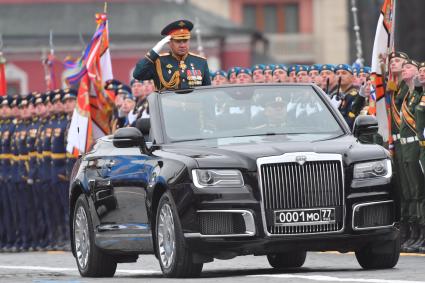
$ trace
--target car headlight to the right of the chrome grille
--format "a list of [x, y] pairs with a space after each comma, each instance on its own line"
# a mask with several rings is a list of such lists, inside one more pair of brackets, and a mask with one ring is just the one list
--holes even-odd
[[388, 184], [392, 176], [391, 160], [357, 163], [354, 165], [352, 187]]

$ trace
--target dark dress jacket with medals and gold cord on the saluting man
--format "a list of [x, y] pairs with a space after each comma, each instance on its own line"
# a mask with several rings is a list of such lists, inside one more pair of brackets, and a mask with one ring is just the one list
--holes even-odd
[[207, 60], [190, 52], [179, 60], [171, 52], [158, 55], [151, 49], [137, 63], [133, 77], [140, 81], [153, 79], [158, 91], [211, 84]]

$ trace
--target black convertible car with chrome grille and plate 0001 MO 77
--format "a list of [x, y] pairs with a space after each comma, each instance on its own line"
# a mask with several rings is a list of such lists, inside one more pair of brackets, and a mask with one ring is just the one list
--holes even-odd
[[354, 251], [363, 268], [399, 258], [389, 152], [351, 131], [314, 85], [251, 84], [152, 93], [150, 118], [99, 139], [74, 167], [72, 251], [82, 276], [155, 254], [166, 277], [214, 258]]

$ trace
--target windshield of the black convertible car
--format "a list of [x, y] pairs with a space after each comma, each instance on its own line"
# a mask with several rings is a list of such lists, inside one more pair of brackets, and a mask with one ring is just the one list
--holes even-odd
[[238, 86], [160, 96], [172, 142], [262, 135], [342, 135], [309, 85]]

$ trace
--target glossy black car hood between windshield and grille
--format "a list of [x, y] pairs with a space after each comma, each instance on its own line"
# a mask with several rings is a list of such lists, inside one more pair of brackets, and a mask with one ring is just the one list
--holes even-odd
[[[215, 144], [215, 146], [212, 146]], [[261, 141], [220, 145], [192, 141], [163, 146], [167, 155], [177, 155], [180, 160], [194, 159], [200, 168], [243, 168], [256, 171], [256, 160], [260, 157], [279, 156], [293, 152], [315, 152], [341, 154], [346, 166], [363, 160], [388, 157], [387, 151], [374, 144], [361, 144], [353, 136], [346, 135], [322, 141], [282, 141], [281, 137], [270, 136]], [[170, 156], [169, 156], [170, 157]]]

